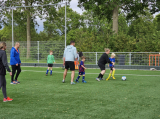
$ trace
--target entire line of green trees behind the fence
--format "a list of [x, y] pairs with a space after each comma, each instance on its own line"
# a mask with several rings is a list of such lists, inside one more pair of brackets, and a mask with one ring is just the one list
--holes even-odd
[[[63, 0], [7, 0], [5, 6], [34, 6], [60, 3]], [[70, 2], [70, 1], [69, 1]], [[153, 0], [79, 0], [84, 9], [78, 14], [67, 6], [67, 44], [76, 42], [78, 51], [102, 52], [104, 47], [114, 52], [159, 52], [160, 2]], [[11, 10], [0, 9], [0, 41], [11, 41]], [[27, 42], [27, 57], [31, 41], [65, 39], [65, 7], [44, 6], [17, 8], [14, 14], [14, 39]], [[37, 32], [36, 17], [45, 19], [44, 30]]]

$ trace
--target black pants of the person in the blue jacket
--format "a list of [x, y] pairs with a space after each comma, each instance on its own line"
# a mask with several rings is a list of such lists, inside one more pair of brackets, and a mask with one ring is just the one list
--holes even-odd
[[12, 76], [11, 76], [11, 81], [14, 80], [14, 75], [16, 73], [16, 70], [17, 70], [17, 73], [16, 73], [16, 77], [15, 77], [15, 80], [18, 79], [18, 76], [19, 74], [21, 73], [21, 67], [20, 67], [20, 64], [18, 64], [18, 66], [16, 65], [11, 65], [12, 66]]

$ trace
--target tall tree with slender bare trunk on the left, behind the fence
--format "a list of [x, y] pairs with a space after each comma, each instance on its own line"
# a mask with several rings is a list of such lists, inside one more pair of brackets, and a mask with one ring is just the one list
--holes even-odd
[[[26, 8], [19, 8], [20, 12], [26, 16], [26, 31], [27, 31], [27, 58], [30, 57], [30, 47], [31, 47], [31, 19], [33, 21], [36, 19], [36, 16], [42, 18], [43, 16], [48, 17], [52, 9], [56, 9], [56, 6], [44, 6], [44, 7], [34, 7], [35, 5], [43, 4], [55, 4], [62, 2], [63, 0], [6, 0], [0, 2], [0, 6], [32, 6]], [[69, 0], [70, 1], [70, 0]], [[1, 9], [0, 12], [3, 15], [6, 15], [10, 10]], [[4, 21], [4, 20], [2, 20]]]

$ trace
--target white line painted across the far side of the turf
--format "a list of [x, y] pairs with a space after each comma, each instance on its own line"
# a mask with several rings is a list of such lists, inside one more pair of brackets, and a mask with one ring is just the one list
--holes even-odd
[[[35, 70], [22, 70], [22, 72], [44, 72], [45, 73], [45, 71], [35, 71]], [[60, 74], [62, 74], [63, 72], [58, 72], [58, 71], [52, 71], [52, 72], [54, 72], [54, 73], [60, 73]], [[68, 72], [68, 73], [71, 73], [71, 72]], [[99, 74], [99, 73], [86, 73], [86, 74]], [[105, 74], [109, 74], [109, 73], [105, 73]], [[159, 76], [160, 77], [160, 75], [137, 75], [137, 74], [115, 74], [115, 75], [121, 75], [121, 76], [125, 76], [125, 75], [130, 75], [130, 76]]]

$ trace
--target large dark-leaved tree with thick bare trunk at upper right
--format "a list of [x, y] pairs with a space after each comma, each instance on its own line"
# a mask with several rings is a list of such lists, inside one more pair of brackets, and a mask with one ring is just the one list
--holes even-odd
[[[158, 0], [157, 0], [158, 1]], [[91, 10], [99, 18], [113, 19], [113, 31], [118, 33], [118, 12], [121, 9], [127, 14], [127, 18], [138, 17], [137, 13], [145, 14], [144, 8], [155, 6], [156, 0], [79, 0], [79, 7]], [[155, 7], [154, 7], [155, 8]], [[156, 9], [151, 9], [152, 13]]]

